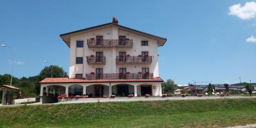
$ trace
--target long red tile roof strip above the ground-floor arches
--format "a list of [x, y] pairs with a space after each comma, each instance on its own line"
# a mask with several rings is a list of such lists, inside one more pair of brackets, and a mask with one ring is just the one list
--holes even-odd
[[72, 82], [163, 82], [160, 77], [152, 79], [83, 79], [83, 78], [45, 78], [39, 83], [72, 83]]

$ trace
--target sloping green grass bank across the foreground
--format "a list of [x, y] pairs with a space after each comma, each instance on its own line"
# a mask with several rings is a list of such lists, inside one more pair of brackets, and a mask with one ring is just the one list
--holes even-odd
[[24, 105], [0, 113], [0, 127], [220, 127], [256, 123], [256, 99]]

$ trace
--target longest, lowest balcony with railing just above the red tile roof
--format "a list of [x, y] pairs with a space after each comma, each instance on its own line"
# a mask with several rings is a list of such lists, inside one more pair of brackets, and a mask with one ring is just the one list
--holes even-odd
[[103, 74], [86, 74], [86, 79], [151, 79], [153, 73], [103, 73]]

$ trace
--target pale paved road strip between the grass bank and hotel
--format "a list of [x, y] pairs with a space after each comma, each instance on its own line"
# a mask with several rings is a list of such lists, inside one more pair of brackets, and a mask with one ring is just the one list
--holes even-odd
[[[130, 102], [130, 101], [156, 101], [156, 100], [204, 100], [204, 99], [238, 99], [238, 98], [256, 98], [256, 96], [203, 96], [203, 97], [197, 97], [197, 96], [187, 96], [187, 97], [133, 97], [133, 98], [127, 98], [127, 97], [116, 97], [116, 98], [87, 98], [87, 99], [77, 99], [72, 101], [65, 101], [65, 102], [58, 102], [58, 103], [46, 103], [42, 105], [49, 105], [49, 104], [62, 104], [62, 103], [88, 103], [88, 102]], [[15, 104], [15, 105], [0, 105], [0, 107], [12, 107], [12, 106], [20, 106], [24, 104]], [[40, 102], [38, 103], [32, 103], [27, 105], [41, 105]]]

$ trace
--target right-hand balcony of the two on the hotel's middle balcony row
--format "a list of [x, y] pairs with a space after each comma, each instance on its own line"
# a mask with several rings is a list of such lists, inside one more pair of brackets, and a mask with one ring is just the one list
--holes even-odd
[[148, 64], [152, 62], [152, 56], [116, 56], [117, 64]]

